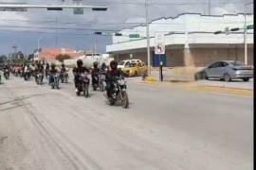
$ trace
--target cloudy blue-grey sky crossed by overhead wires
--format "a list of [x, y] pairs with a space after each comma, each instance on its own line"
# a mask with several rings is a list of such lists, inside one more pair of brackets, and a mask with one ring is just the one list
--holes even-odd
[[[94, 36], [95, 31], [118, 32], [145, 23], [145, 0], [81, 0], [82, 5], [106, 6], [107, 11], [84, 9], [74, 15], [72, 9], [47, 11], [29, 9], [26, 12], [0, 11], [0, 54], [18, 51], [30, 54], [39, 47], [71, 47], [104, 53], [111, 37]], [[1, 3], [33, 5], [71, 5], [73, 0], [0, 0]], [[175, 17], [180, 13], [209, 14], [205, 0], [148, 0], [150, 20]], [[243, 12], [243, 4], [252, 0], [210, 0], [210, 14]], [[252, 12], [252, 6], [247, 12]]]

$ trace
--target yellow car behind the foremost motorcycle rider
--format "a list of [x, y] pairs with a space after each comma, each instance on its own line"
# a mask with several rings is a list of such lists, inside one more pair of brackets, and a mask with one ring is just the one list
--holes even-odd
[[147, 73], [147, 66], [144, 62], [134, 62], [123, 67], [121, 70], [126, 76], [143, 76]]

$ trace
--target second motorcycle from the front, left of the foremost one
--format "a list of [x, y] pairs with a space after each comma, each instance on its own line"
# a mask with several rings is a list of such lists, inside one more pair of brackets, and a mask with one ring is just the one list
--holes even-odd
[[80, 74], [79, 75], [79, 83], [77, 87], [77, 95], [80, 95], [80, 93], [83, 93], [83, 95], [87, 98], [89, 96], [89, 84], [90, 79], [87, 76], [87, 73]]

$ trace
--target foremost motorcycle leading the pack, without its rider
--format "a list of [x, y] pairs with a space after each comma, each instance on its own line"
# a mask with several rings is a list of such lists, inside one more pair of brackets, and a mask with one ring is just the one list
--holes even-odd
[[126, 92], [127, 86], [123, 76], [119, 76], [113, 82], [113, 93], [108, 98], [111, 106], [115, 105], [117, 101], [121, 101], [121, 105], [124, 109], [129, 107], [129, 98]]

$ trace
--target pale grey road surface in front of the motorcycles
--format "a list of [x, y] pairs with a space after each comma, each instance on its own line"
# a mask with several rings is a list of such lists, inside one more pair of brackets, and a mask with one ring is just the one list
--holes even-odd
[[128, 79], [130, 108], [11, 76], [0, 85], [0, 170], [251, 170], [253, 97]]

